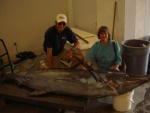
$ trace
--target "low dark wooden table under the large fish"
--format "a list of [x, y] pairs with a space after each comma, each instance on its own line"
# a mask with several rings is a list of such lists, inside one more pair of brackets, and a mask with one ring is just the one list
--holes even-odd
[[0, 85], [0, 97], [4, 99], [79, 112], [84, 111], [86, 107], [87, 99], [85, 98], [54, 93], [39, 97], [30, 97], [29, 93], [31, 91], [32, 90], [27, 87], [18, 87], [16, 84], [12, 83], [4, 83]]

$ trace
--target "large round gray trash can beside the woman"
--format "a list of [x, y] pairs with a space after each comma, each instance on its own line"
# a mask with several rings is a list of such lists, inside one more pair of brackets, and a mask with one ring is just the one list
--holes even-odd
[[147, 75], [150, 46], [144, 40], [125, 40], [122, 42], [122, 54], [128, 74]]

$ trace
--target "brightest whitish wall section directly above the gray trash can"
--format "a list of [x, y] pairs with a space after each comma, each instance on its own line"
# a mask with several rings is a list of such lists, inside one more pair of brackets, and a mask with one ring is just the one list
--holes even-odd
[[150, 36], [150, 0], [126, 0], [124, 39]]

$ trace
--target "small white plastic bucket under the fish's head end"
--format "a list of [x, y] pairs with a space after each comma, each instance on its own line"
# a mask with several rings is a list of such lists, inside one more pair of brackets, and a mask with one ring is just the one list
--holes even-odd
[[113, 97], [113, 108], [116, 111], [126, 112], [132, 107], [134, 90], [119, 96]]

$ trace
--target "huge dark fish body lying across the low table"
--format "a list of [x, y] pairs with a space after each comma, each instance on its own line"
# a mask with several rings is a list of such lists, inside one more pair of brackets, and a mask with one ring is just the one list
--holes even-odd
[[125, 73], [97, 70], [107, 83], [96, 81], [89, 71], [80, 69], [41, 69], [25, 71], [6, 78], [34, 89], [31, 96], [55, 92], [84, 98], [102, 98], [127, 93], [150, 81], [150, 76], [128, 76]]

